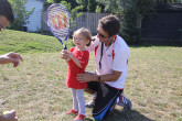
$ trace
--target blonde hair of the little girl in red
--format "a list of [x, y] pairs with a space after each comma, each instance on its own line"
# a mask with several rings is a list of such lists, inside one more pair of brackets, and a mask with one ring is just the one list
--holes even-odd
[[89, 30], [85, 28], [81, 28], [73, 33], [73, 37], [75, 37], [78, 34], [83, 36], [84, 41], [87, 41], [87, 40], [89, 41], [89, 43], [87, 44], [87, 46], [89, 46], [92, 42], [92, 33], [89, 32]]

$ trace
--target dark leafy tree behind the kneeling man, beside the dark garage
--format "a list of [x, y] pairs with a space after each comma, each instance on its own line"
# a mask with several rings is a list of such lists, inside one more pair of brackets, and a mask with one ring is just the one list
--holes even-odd
[[105, 11], [118, 14], [121, 20], [120, 35], [128, 43], [140, 41], [140, 29], [137, 21], [150, 16], [156, 6], [156, 0], [97, 0], [105, 6]]

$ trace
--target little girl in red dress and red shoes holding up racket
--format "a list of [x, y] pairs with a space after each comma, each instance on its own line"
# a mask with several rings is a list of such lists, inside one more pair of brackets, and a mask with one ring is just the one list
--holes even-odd
[[90, 32], [82, 28], [73, 34], [73, 43], [76, 46], [72, 47], [69, 51], [64, 50], [61, 53], [61, 58], [65, 59], [68, 64], [68, 74], [65, 85], [71, 88], [73, 97], [73, 109], [66, 112], [66, 114], [78, 113], [74, 121], [82, 121], [85, 118], [84, 88], [87, 87], [87, 84], [79, 82], [76, 76], [77, 74], [85, 73], [89, 59], [89, 53], [85, 50], [85, 46], [89, 45], [90, 41]]

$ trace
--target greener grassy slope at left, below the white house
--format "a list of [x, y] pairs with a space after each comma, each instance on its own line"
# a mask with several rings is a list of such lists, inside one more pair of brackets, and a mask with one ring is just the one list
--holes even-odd
[[[62, 44], [54, 37], [26, 33], [20, 31], [6, 30], [0, 33], [0, 53], [45, 53], [58, 52], [63, 48]], [[68, 41], [68, 46], [72, 41]]]

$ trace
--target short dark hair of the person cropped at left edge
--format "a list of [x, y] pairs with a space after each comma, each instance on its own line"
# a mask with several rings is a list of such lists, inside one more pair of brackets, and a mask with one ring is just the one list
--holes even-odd
[[10, 23], [14, 21], [12, 7], [8, 0], [0, 0], [0, 15], [6, 16]]

